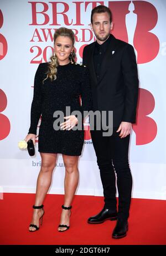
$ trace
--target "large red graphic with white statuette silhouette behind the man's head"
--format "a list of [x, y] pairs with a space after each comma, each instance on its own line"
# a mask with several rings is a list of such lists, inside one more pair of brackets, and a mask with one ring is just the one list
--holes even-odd
[[[126, 15], [129, 13], [130, 3], [131, 1], [110, 1], [108, 6], [114, 22], [112, 34], [127, 43]], [[152, 3], [146, 1], [132, 1], [132, 3], [134, 4], [133, 13], [137, 15], [133, 38], [133, 44], [137, 50], [137, 62], [138, 64], [151, 62], [159, 52], [159, 39], [150, 32], [158, 21], [157, 9]]]

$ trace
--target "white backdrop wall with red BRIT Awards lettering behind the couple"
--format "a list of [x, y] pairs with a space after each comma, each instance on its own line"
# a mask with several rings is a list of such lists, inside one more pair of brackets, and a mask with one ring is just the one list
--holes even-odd
[[[18, 149], [27, 135], [34, 74], [49, 60], [54, 29], [68, 27], [76, 34], [77, 62], [84, 45], [94, 42], [90, 14], [95, 4], [113, 12], [113, 34], [131, 43], [138, 60], [140, 94], [137, 124], [133, 126], [129, 160], [135, 198], [166, 199], [165, 55], [166, 2], [37, 1], [0, 3], [0, 197], [3, 192], [34, 193], [41, 159]], [[37, 13], [38, 12], [38, 13]], [[87, 125], [87, 124], [85, 124]], [[88, 127], [87, 127], [88, 128]], [[86, 131], [79, 161], [77, 194], [102, 196], [96, 156]], [[58, 157], [49, 193], [64, 193], [64, 166]]]

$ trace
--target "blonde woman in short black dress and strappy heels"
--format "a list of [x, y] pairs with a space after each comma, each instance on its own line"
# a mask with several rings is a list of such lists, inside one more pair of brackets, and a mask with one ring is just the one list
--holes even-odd
[[[58, 153], [62, 154], [65, 165], [65, 196], [58, 231], [69, 229], [71, 202], [79, 180], [77, 163], [84, 144], [84, 129], [72, 129], [78, 120], [75, 115], [66, 116], [66, 106], [70, 106], [71, 112], [79, 110], [82, 113], [91, 109], [89, 74], [85, 66], [74, 62], [74, 42], [75, 37], [71, 29], [57, 29], [51, 62], [39, 64], [35, 74], [30, 128], [25, 141], [32, 139], [35, 145], [38, 121], [42, 114], [38, 138], [42, 166], [37, 181], [30, 232], [39, 229], [40, 219], [42, 224], [43, 201], [51, 184]], [[59, 126], [60, 129], [55, 130], [53, 124], [56, 118], [53, 114], [59, 110], [65, 117]]]

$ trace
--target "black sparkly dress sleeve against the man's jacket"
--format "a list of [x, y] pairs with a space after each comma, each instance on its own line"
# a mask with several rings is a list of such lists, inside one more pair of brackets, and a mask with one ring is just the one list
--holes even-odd
[[[92, 95], [90, 86], [90, 76], [89, 71], [86, 67], [81, 67], [81, 111], [82, 117], [84, 116], [84, 111], [90, 111], [92, 109]], [[84, 116], [85, 117], [85, 116]]]

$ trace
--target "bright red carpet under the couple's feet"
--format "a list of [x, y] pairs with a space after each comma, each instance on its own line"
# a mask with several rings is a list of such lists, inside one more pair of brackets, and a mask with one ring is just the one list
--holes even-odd
[[43, 226], [31, 233], [34, 194], [4, 193], [0, 200], [0, 244], [166, 244], [166, 201], [132, 199], [127, 237], [112, 239], [115, 221], [87, 224], [87, 218], [103, 207], [103, 198], [75, 196], [72, 203], [69, 231], [57, 231], [63, 195], [47, 194], [44, 201]]

